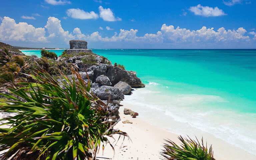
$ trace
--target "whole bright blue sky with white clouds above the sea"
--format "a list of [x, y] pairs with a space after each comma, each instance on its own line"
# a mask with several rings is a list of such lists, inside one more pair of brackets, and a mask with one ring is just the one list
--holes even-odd
[[0, 41], [24, 47], [256, 48], [252, 0], [10, 0]]

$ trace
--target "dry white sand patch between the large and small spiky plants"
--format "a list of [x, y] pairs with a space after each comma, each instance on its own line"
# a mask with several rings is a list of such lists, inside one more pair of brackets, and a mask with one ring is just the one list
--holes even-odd
[[[132, 118], [130, 115], [124, 115], [123, 109], [128, 106], [121, 106], [119, 109], [121, 121], [115, 126], [121, 131], [125, 131], [130, 136], [131, 141], [125, 138], [123, 141], [120, 139], [115, 148], [114, 160], [125, 160], [125, 159], [150, 159], [160, 160], [161, 155], [159, 152], [163, 148], [164, 139], [171, 139], [175, 143], [179, 144], [178, 135], [168, 132], [166, 130], [157, 128], [147, 122], [144, 122], [139, 118]], [[123, 124], [122, 121], [130, 120], [133, 123]], [[117, 140], [118, 136], [114, 136]], [[113, 142], [113, 141], [112, 141]], [[115, 144], [115, 143], [114, 143]], [[97, 157], [101, 157], [100, 152]], [[113, 150], [109, 145], [104, 150], [102, 157], [113, 158]], [[218, 156], [214, 156], [218, 160], [224, 160]], [[105, 158], [99, 158], [100, 160], [107, 160]]]

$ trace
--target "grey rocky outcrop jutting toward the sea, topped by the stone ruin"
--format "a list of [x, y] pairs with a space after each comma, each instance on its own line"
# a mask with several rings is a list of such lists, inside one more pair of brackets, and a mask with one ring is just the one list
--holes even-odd
[[[66, 64], [72, 63], [87, 83], [89, 77], [91, 90], [106, 104], [110, 97], [108, 106], [112, 115], [118, 116], [120, 101], [124, 99], [124, 94], [131, 93], [132, 87], [145, 87], [136, 76], [136, 72], [112, 65], [107, 58], [92, 53], [92, 50], [87, 49], [86, 41], [70, 41], [70, 49], [65, 52], [72, 56], [67, 56], [69, 58], [59, 57], [57, 61]], [[137, 114], [134, 115], [136, 117]]]

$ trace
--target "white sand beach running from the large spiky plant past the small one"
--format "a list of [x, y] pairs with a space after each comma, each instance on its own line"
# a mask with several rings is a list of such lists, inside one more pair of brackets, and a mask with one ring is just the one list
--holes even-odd
[[[131, 95], [133, 96], [133, 95]], [[126, 159], [135, 159], [135, 160], [159, 160], [161, 159], [161, 155], [159, 152], [163, 148], [162, 145], [164, 143], [164, 139], [170, 139], [177, 144], [179, 143], [178, 135], [172, 132], [168, 132], [164, 129], [158, 128], [150, 123], [147, 123], [145, 120], [140, 118], [140, 115], [137, 118], [132, 118], [130, 115], [124, 115], [124, 108], [131, 107], [130, 104], [126, 103], [127, 100], [121, 102], [122, 105], [119, 112], [121, 121], [115, 126], [121, 131], [125, 131], [130, 136], [131, 141], [128, 138], [125, 138], [123, 141], [123, 137], [119, 139], [115, 148], [115, 156], [114, 160], [126, 160]], [[136, 110], [134, 110], [136, 112]], [[139, 113], [140, 114], [140, 113]], [[160, 116], [160, 115], [159, 115]], [[123, 124], [122, 121], [130, 120], [133, 123]], [[190, 135], [191, 136], [191, 135]], [[114, 138], [117, 140], [118, 135], [115, 135]], [[193, 138], [191, 136], [191, 138]], [[200, 138], [200, 137], [198, 137]], [[204, 137], [208, 138], [208, 137]], [[214, 158], [216, 160], [243, 160], [246, 157], [246, 160], [254, 160], [255, 156], [253, 154], [248, 154], [244, 150], [232, 146], [220, 139], [215, 139], [216, 141], [210, 141], [207, 143], [208, 146], [210, 144], [213, 145]], [[113, 140], [111, 139], [111, 142]], [[216, 143], [215, 143], [216, 142]], [[222, 144], [220, 144], [222, 143]], [[222, 146], [221, 146], [222, 145]], [[105, 158], [113, 158], [113, 150], [107, 145], [105, 146], [104, 155], [100, 152], [97, 157], [105, 157]], [[246, 155], [246, 156], [245, 156]], [[99, 160], [107, 160], [105, 158], [99, 158]]]

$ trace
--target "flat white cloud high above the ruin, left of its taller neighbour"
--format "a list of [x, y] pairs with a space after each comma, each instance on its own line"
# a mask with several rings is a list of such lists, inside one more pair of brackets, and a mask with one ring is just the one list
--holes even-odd
[[67, 15], [69, 17], [75, 18], [75, 19], [97, 19], [99, 18], [98, 14], [95, 12], [85, 12], [84, 10], [81, 10], [79, 8], [71, 8], [66, 11]]

